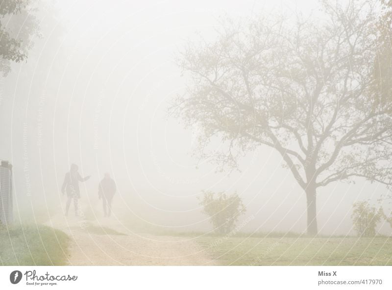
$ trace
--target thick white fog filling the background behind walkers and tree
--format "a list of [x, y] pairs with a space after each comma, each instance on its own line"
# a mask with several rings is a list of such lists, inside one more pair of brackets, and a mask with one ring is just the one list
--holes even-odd
[[[212, 231], [197, 197], [238, 192], [245, 232], [306, 231], [306, 196], [282, 157], [266, 146], [220, 172], [198, 159], [198, 126], [169, 113], [186, 78], [175, 57], [188, 42], [214, 41], [221, 20], [318, 13], [317, 1], [41, 1], [40, 36], [26, 61], [0, 80], [0, 159], [13, 164], [15, 218], [45, 220], [62, 211], [70, 165], [82, 177], [80, 204], [102, 216], [98, 183], [118, 191], [113, 221], [173, 231]], [[10, 20], [12, 21], [12, 20]], [[220, 148], [219, 140], [210, 146]], [[376, 203], [384, 185], [357, 178], [318, 191], [319, 233], [354, 234], [352, 204]], [[73, 210], [71, 208], [71, 210]], [[71, 211], [73, 212], [73, 211]], [[388, 224], [380, 232], [390, 235]]]

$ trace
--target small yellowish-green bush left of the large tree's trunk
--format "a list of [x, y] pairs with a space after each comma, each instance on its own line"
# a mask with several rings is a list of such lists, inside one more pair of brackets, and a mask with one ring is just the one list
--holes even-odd
[[221, 235], [230, 233], [240, 217], [245, 213], [245, 205], [237, 192], [227, 195], [224, 192], [204, 192], [203, 198], [199, 199], [203, 206], [203, 213], [210, 216], [210, 223], [215, 231]]

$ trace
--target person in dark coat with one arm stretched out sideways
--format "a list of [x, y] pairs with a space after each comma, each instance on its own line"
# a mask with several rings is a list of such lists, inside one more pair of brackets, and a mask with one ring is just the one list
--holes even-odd
[[79, 215], [78, 212], [78, 199], [80, 198], [79, 182], [85, 182], [90, 178], [86, 176], [82, 178], [78, 172], [79, 167], [76, 164], [71, 164], [70, 172], [65, 174], [64, 183], [61, 187], [61, 192], [67, 192], [67, 206], [65, 208], [65, 215], [68, 215], [71, 200], [73, 199], [73, 206], [75, 207], [75, 216]]

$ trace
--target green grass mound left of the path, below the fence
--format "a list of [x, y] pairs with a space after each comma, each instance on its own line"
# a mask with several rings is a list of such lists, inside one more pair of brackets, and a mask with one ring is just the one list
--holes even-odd
[[0, 265], [65, 265], [69, 241], [43, 225], [0, 228]]

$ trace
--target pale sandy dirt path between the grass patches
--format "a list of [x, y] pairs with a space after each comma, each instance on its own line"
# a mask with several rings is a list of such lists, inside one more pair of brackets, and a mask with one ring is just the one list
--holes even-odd
[[188, 237], [154, 236], [126, 229], [114, 219], [82, 221], [52, 217], [48, 226], [72, 239], [69, 265], [212, 265], [214, 261]]

